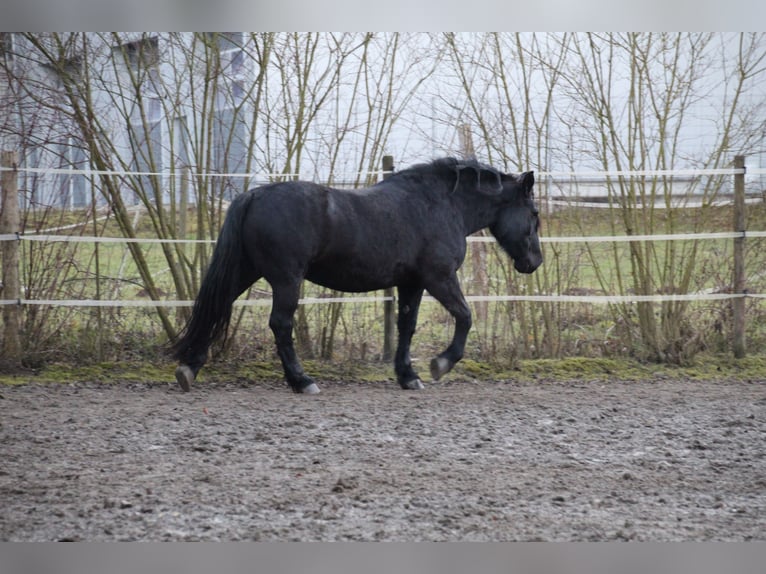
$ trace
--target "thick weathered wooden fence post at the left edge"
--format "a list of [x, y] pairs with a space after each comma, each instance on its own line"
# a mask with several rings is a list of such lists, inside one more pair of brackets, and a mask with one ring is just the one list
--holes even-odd
[[[4, 151], [0, 154], [0, 165], [13, 168], [3, 171], [2, 198], [0, 198], [0, 235], [16, 234], [20, 231], [19, 219], [19, 181], [18, 154]], [[21, 300], [21, 283], [19, 281], [19, 242], [2, 241], [2, 299]], [[8, 366], [21, 364], [21, 306], [3, 305], [3, 348], [2, 361]]]

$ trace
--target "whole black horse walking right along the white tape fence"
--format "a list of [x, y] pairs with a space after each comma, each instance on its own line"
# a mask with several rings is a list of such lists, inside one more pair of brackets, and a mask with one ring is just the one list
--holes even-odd
[[451, 344], [431, 361], [431, 376], [438, 380], [462, 358], [471, 328], [457, 277], [466, 237], [489, 227], [517, 271], [532, 273], [542, 263], [533, 184], [533, 172], [516, 176], [474, 160], [445, 158], [366, 189], [297, 181], [237, 196], [191, 318], [171, 346], [180, 363], [178, 383], [189, 390], [209, 347], [225, 334], [235, 299], [263, 277], [273, 291], [269, 327], [293, 391], [319, 392], [293, 348], [293, 314], [304, 279], [351, 292], [396, 286], [396, 379], [403, 389], [422, 389], [410, 341], [423, 290], [455, 318]]

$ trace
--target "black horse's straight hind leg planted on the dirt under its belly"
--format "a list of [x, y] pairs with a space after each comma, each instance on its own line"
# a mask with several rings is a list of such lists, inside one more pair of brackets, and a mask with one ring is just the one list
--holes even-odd
[[290, 388], [296, 393], [316, 394], [319, 387], [303, 372], [293, 345], [293, 316], [298, 308], [300, 282], [298, 284], [272, 284], [273, 298], [269, 327], [274, 333], [277, 354]]

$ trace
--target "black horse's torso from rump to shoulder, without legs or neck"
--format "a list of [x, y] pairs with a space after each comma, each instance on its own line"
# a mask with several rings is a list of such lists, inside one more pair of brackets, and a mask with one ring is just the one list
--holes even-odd
[[424, 265], [453, 267], [463, 256], [459, 226], [427, 190], [286, 182], [248, 193], [245, 249], [267, 279], [289, 270], [364, 292], [417, 281]]

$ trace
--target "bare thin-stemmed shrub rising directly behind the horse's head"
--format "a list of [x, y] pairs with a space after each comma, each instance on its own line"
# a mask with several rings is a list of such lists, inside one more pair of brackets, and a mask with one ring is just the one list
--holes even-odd
[[[465, 124], [475, 130], [478, 142], [475, 147], [480, 158], [508, 171], [550, 168], [547, 153], [550, 121], [568, 38], [566, 34], [552, 38], [519, 33], [444, 36], [445, 59], [451, 64], [454, 81], [448, 84], [448, 89], [460, 94], [451, 100], [451, 114], [447, 117], [455, 125]], [[474, 275], [483, 277], [476, 287], [487, 293], [488, 278], [486, 273], [480, 273], [489, 264], [481, 255], [483, 248], [483, 244], [472, 246], [474, 252], [480, 254], [472, 260], [472, 265]], [[496, 258], [492, 265], [507, 278], [508, 294], [530, 292], [535, 288], [548, 291], [552, 287], [552, 276], [547, 273], [536, 274], [519, 285], [506, 260]], [[530, 334], [518, 337], [522, 353], [532, 349], [546, 354], [557, 352], [559, 329], [555, 307], [519, 303], [510, 303], [507, 307], [518, 316], [521, 332]], [[487, 342], [484, 347], [494, 353], [490, 342], [496, 337], [488, 330], [482, 308], [477, 310], [479, 318], [485, 319], [483, 336]], [[539, 324], [544, 327], [542, 330], [538, 329]], [[497, 322], [494, 325], [497, 326]], [[479, 332], [482, 333], [481, 328]]]

